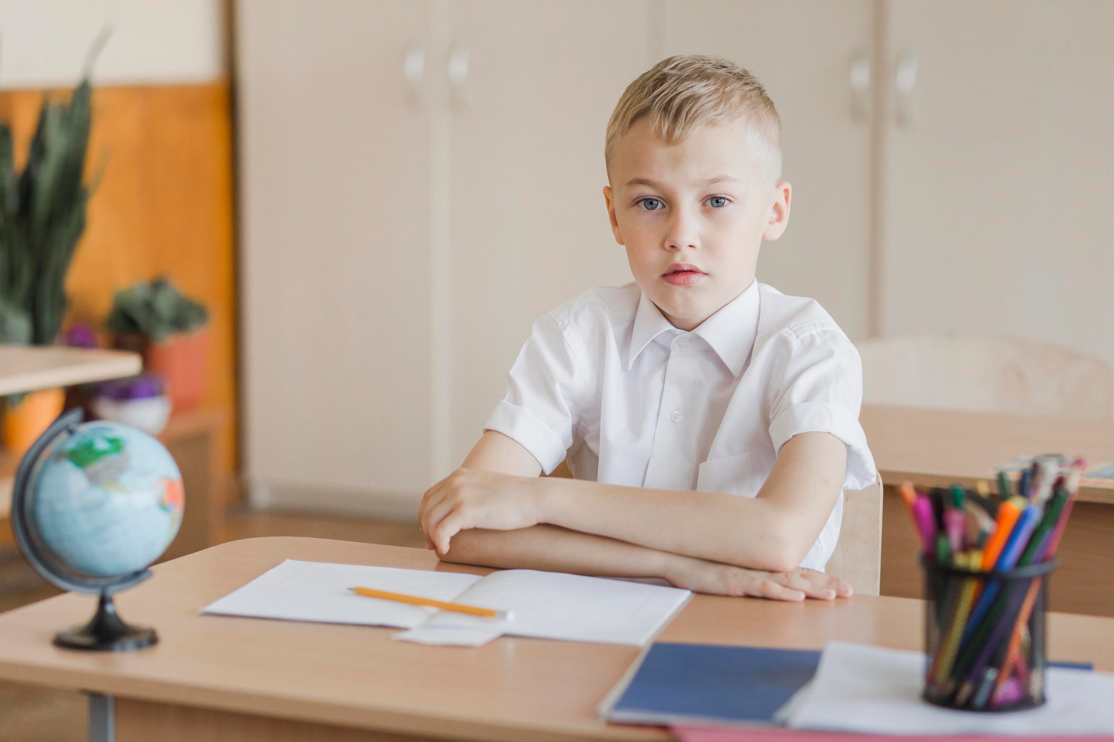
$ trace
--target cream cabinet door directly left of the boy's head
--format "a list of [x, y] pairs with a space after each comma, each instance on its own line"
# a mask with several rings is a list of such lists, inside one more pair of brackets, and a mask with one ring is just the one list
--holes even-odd
[[[604, 207], [604, 132], [647, 68], [644, 0], [467, 0], [451, 113], [451, 444], [458, 466], [531, 323], [632, 280]], [[462, 103], [462, 105], [461, 105]]]

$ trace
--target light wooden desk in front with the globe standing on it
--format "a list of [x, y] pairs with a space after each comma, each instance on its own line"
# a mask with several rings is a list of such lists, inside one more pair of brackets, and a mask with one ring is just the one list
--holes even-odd
[[[397, 630], [203, 616], [197, 610], [284, 558], [486, 573], [431, 552], [317, 538], [252, 538], [155, 567], [118, 600], [162, 641], [125, 654], [50, 644], [94, 598], [61, 595], [0, 615], [0, 679], [116, 698], [118, 742], [136, 740], [667, 740], [615, 726], [596, 704], [637, 647], [504, 637], [477, 649], [393, 642]], [[921, 646], [919, 601], [774, 603], [696, 596], [663, 641], [822, 647], [830, 639]], [[1114, 620], [1056, 614], [1052, 656], [1114, 670]]]

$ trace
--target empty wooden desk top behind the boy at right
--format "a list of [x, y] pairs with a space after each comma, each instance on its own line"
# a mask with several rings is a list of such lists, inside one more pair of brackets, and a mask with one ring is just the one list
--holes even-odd
[[[974, 486], [993, 479], [996, 466], [1033, 454], [1114, 462], [1114, 422], [881, 405], [863, 405], [859, 422], [887, 484]], [[1114, 504], [1114, 487], [1083, 486], [1079, 501]]]

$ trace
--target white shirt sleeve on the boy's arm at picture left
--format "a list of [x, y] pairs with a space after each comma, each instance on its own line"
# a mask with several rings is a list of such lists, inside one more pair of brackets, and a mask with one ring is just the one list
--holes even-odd
[[584, 369], [549, 316], [536, 323], [507, 380], [507, 395], [485, 429], [498, 431], [530, 452], [546, 474], [565, 461], [583, 408]]

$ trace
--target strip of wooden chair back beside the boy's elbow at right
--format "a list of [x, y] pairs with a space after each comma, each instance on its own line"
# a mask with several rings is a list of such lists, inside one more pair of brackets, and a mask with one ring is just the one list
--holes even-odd
[[856, 595], [878, 595], [882, 578], [882, 477], [866, 489], [843, 491], [843, 525], [824, 572], [851, 584]]

